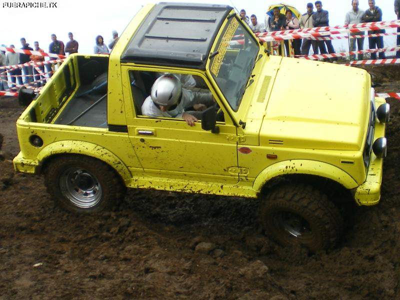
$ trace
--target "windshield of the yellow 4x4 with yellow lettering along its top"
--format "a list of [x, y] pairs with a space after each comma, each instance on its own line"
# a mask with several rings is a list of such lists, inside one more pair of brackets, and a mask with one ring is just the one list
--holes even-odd
[[230, 107], [237, 111], [254, 67], [259, 45], [236, 17], [226, 24], [211, 53], [210, 72]]

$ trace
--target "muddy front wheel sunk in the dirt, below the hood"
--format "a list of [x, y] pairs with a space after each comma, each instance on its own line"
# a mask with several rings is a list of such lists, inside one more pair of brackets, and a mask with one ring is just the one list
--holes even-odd
[[313, 252], [333, 247], [343, 230], [342, 216], [325, 194], [295, 183], [279, 185], [264, 197], [260, 222], [277, 242]]

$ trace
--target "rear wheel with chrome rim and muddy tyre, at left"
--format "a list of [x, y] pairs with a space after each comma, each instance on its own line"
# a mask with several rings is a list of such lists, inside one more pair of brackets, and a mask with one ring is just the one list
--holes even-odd
[[124, 195], [124, 185], [115, 171], [93, 157], [55, 157], [44, 174], [47, 191], [55, 203], [72, 212], [98, 212]]

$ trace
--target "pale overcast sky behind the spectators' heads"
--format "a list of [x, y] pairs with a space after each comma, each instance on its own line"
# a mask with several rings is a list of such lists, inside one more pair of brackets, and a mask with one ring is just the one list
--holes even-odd
[[[0, 0], [0, 44], [14, 44], [20, 48], [20, 37], [33, 46], [37, 40], [41, 48], [48, 51], [51, 42], [50, 34], [55, 33], [57, 38], [64, 43], [68, 41], [67, 33], [72, 31], [74, 38], [79, 42], [80, 53], [92, 53], [95, 36], [100, 34], [108, 44], [111, 41], [111, 31], [119, 33], [125, 28], [134, 14], [144, 4], [155, 2], [149, 0], [31, 0], [31, 2], [56, 3], [51, 8], [10, 8], [23, 0]], [[221, 3], [235, 6], [238, 10], [244, 8], [247, 15], [254, 13], [258, 20], [263, 20], [270, 4], [278, 1], [254, 0], [197, 0], [175, 2], [208, 2]], [[286, 3], [295, 6], [301, 13], [306, 10], [307, 0], [287, 0]], [[362, 10], [368, 8], [367, 0], [359, 0]], [[382, 9], [383, 20], [394, 20], [396, 15], [393, 9], [394, 0], [376, 0], [376, 5]], [[322, 0], [323, 9], [329, 11], [329, 24], [342, 25], [344, 15], [351, 9], [351, 0]], [[182, 28], [183, 29], [183, 28]], [[394, 32], [387, 29], [387, 32]], [[336, 52], [341, 49], [348, 50], [347, 41], [334, 41]], [[385, 46], [394, 46], [395, 37], [385, 37]], [[367, 47], [367, 41], [365, 41]], [[365, 48], [364, 47], [364, 48]]]

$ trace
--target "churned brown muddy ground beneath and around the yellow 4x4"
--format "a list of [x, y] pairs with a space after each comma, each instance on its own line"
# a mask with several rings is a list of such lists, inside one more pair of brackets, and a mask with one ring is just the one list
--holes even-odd
[[[400, 68], [368, 68], [398, 92]], [[54, 207], [40, 176], [16, 174], [15, 98], [0, 98], [0, 299], [400, 298], [400, 101], [388, 99], [381, 202], [358, 207], [340, 244], [310, 254], [256, 225], [256, 200], [129, 190], [112, 211]]]

